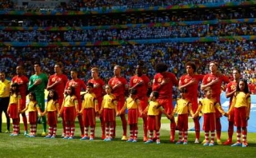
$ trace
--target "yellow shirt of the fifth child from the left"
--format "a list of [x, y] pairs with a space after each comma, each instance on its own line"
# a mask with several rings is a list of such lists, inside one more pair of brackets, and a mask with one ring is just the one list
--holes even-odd
[[98, 110], [98, 101], [94, 93], [86, 93], [82, 101], [82, 109], [94, 108]]

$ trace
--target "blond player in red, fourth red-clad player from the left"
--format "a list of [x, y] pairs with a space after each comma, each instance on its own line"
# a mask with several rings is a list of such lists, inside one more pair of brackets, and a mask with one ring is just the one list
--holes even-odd
[[[105, 82], [98, 76], [98, 68], [90, 69], [91, 79], [87, 81], [87, 84], [92, 83], [94, 85], [93, 93], [96, 95], [96, 99], [98, 101], [98, 109], [102, 108], [102, 99], [104, 92]], [[102, 128], [102, 140], [105, 139], [105, 123], [103, 122], [102, 115], [99, 116], [101, 120], [101, 128]]]

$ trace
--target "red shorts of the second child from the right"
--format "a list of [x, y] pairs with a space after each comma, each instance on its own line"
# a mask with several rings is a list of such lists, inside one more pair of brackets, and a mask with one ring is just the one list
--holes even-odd
[[203, 130], [206, 132], [215, 131], [215, 113], [203, 114]]

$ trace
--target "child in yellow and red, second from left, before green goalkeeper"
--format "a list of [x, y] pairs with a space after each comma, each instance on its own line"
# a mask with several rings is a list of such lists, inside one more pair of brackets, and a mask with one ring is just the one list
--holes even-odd
[[29, 93], [30, 102], [26, 105], [25, 109], [22, 109], [21, 113], [25, 113], [26, 110], [29, 112], [29, 122], [30, 122], [30, 134], [27, 137], [34, 137], [37, 132], [37, 123], [38, 123], [38, 113], [42, 116], [42, 112], [36, 101], [35, 93]]

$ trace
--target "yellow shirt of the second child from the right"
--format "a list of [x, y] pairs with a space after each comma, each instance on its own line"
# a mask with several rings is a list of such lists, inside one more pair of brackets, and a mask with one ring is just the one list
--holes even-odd
[[219, 105], [215, 99], [204, 98], [199, 102], [197, 113], [199, 113], [201, 110], [202, 113], [215, 113], [215, 108], [217, 108], [220, 113], [225, 113], [222, 110], [221, 105]]

